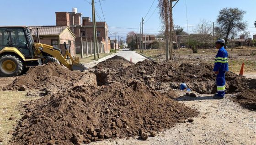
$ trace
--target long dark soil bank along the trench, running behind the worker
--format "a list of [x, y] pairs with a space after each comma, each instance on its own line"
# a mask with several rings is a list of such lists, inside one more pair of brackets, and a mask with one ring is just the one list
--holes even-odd
[[[141, 80], [156, 90], [168, 87], [178, 88], [180, 83], [187, 83], [198, 93], [215, 93], [217, 91], [215, 79], [213, 64], [210, 63], [182, 63], [177, 66], [176, 62], [157, 63], [144, 60], [123, 69], [110, 78], [108, 82], [129, 83], [133, 80]], [[240, 92], [248, 88], [248, 79], [235, 73], [227, 72], [226, 81], [228, 93]]]

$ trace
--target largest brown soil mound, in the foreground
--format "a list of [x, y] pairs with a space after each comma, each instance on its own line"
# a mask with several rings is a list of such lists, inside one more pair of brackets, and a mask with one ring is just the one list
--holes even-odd
[[196, 110], [134, 81], [128, 86], [77, 86], [31, 102], [26, 113], [12, 144], [70, 145], [133, 137], [197, 115]]

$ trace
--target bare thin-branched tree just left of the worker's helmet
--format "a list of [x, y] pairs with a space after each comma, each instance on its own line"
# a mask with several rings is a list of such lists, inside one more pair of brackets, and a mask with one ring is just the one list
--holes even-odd
[[201, 44], [202, 47], [212, 45], [213, 40], [213, 25], [210, 21], [201, 20], [198, 24], [194, 33], [199, 34], [194, 37]]

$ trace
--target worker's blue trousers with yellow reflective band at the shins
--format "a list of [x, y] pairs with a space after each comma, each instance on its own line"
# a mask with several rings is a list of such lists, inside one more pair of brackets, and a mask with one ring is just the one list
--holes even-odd
[[218, 91], [218, 96], [224, 97], [225, 95], [225, 73], [226, 72], [221, 72], [219, 71], [219, 74], [217, 74], [216, 77], [216, 83], [217, 83], [217, 91]]

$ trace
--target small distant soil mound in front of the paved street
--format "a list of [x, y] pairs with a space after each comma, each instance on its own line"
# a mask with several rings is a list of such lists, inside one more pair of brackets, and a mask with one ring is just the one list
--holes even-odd
[[111, 58], [108, 58], [107, 60], [98, 63], [95, 67], [93, 68], [98, 68], [98, 69], [102, 69], [102, 68], [112, 68], [112, 69], [123, 69], [126, 68], [128, 66], [133, 65], [133, 62], [129, 62], [127, 59], [123, 58], [123, 57], [119, 57], [119, 56], [114, 56]]

